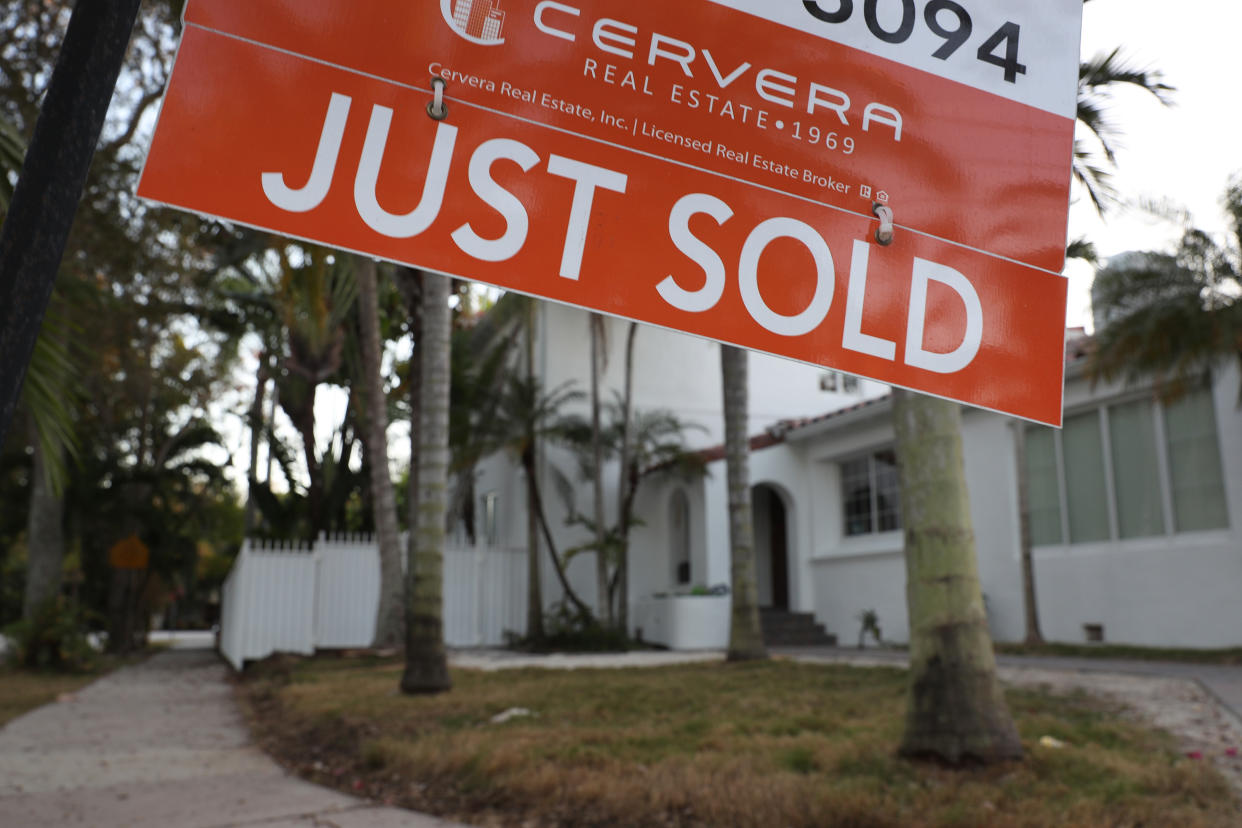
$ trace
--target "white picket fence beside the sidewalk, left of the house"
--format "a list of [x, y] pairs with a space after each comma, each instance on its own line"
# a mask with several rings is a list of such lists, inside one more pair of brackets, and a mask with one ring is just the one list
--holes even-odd
[[[240, 670], [272, 653], [368, 647], [379, 586], [370, 535], [320, 535], [315, 544], [247, 540], [225, 580], [220, 650]], [[525, 550], [446, 549], [443, 596], [447, 646], [504, 643], [507, 631], [525, 627]]]

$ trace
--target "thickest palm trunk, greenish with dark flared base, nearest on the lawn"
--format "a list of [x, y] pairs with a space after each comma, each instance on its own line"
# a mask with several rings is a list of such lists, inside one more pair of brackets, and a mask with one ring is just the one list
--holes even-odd
[[1018, 758], [979, 586], [956, 403], [894, 390], [910, 689], [900, 754], [950, 763]]

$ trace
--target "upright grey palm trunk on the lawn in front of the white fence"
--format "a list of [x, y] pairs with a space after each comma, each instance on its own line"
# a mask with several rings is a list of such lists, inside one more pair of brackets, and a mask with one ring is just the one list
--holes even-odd
[[452, 686], [445, 653], [445, 510], [448, 488], [450, 281], [422, 278], [422, 336], [417, 344], [422, 401], [419, 412], [417, 514], [411, 515], [414, 554], [402, 693], [442, 693]]

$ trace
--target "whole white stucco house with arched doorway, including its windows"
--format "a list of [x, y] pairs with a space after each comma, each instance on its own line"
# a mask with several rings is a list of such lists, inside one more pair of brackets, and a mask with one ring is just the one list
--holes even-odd
[[[545, 387], [586, 389], [585, 312], [544, 304], [537, 371]], [[609, 320], [605, 387], [620, 389], [623, 330]], [[729, 582], [719, 346], [642, 328], [635, 403], [698, 423], [689, 446], [709, 475], [653, 480], [637, 502], [631, 536], [631, 624], [657, 593]], [[1052, 641], [1225, 647], [1242, 644], [1242, 410], [1236, 361], [1222, 361], [1185, 397], [1165, 403], [1150, 387], [1093, 386], [1069, 362], [1064, 427], [963, 410], [963, 439], [979, 571], [994, 638], [1023, 636], [1016, 430], [1026, 431], [1031, 534], [1040, 616]], [[858, 614], [878, 613], [884, 637], [908, 636], [900, 504], [887, 389], [775, 356], [750, 356], [750, 478], [760, 603], [814, 613], [843, 641]], [[609, 392], [611, 394], [611, 391]], [[573, 463], [556, 448], [542, 474]], [[610, 479], [612, 475], [610, 474]], [[551, 490], [545, 484], [545, 490]], [[507, 458], [479, 469], [479, 536], [525, 542], [524, 484]], [[579, 509], [591, 492], [578, 488]], [[549, 498], [549, 502], [553, 499]], [[606, 503], [615, 497], [610, 493]], [[549, 503], [561, 549], [582, 541]], [[570, 577], [595, 595], [594, 561]], [[559, 587], [545, 565], [544, 596]], [[635, 612], [635, 608], [638, 612]]]

